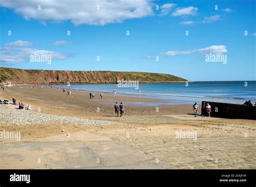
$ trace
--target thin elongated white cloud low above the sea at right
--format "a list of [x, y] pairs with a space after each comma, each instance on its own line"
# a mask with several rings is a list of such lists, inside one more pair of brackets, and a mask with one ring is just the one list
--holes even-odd
[[187, 51], [166, 51], [163, 54], [167, 56], [176, 56], [179, 54], [191, 54], [191, 53], [204, 53], [204, 54], [223, 54], [227, 52], [227, 46], [225, 45], [212, 45], [198, 50], [187, 50]]

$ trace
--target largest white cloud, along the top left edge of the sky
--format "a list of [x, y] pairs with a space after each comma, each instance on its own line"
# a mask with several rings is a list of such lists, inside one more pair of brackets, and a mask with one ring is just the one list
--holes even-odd
[[[41, 10], [38, 10], [38, 5]], [[44, 24], [46, 20], [55, 22], [71, 20], [75, 25], [105, 25], [153, 14], [152, 2], [149, 0], [1, 0], [0, 6], [14, 9], [25, 19], [38, 19]]]

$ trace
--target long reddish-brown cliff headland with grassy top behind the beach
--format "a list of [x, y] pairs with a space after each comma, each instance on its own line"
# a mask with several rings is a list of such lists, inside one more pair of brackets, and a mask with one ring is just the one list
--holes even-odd
[[139, 82], [176, 82], [186, 81], [170, 74], [144, 72], [111, 71], [55, 71], [21, 70], [0, 67], [1, 82], [12, 84], [62, 84], [66, 82], [93, 84], [116, 83], [118, 80], [136, 80]]

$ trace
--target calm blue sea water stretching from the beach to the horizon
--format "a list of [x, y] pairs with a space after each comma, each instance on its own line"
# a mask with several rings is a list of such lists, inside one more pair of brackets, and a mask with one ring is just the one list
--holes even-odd
[[68, 89], [83, 91], [95, 91], [112, 93], [117, 89], [117, 94], [129, 94], [147, 98], [159, 98], [168, 101], [168, 104], [178, 105], [181, 103], [193, 103], [201, 101], [216, 101], [230, 103], [244, 103], [245, 100], [256, 102], [256, 81], [233, 81], [233, 82], [189, 82], [185, 83], [152, 83], [139, 84], [134, 87], [119, 87], [118, 84], [75, 84], [58, 85]]

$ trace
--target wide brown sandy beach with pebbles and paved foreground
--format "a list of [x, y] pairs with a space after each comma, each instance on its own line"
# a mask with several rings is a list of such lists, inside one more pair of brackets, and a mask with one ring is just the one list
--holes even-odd
[[[163, 105], [158, 103], [167, 101], [107, 93], [103, 99], [99, 93], [90, 99], [89, 92], [72, 91], [68, 95], [62, 89], [39, 85], [33, 88], [31, 85], [13, 86], [0, 92], [1, 100], [11, 101], [12, 98], [17, 102], [22, 100], [26, 106], [30, 104], [33, 110], [1, 105], [0, 131], [21, 132], [18, 142], [0, 139], [3, 148], [1, 169], [256, 168], [256, 124], [253, 120], [194, 117], [191, 105]], [[114, 102], [123, 102], [123, 117], [114, 116]], [[199, 113], [200, 109], [199, 106]], [[14, 121], [16, 116], [18, 120]], [[177, 132], [191, 132], [193, 137], [179, 137]], [[71, 138], [66, 138], [67, 134]], [[48, 142], [46, 146], [45, 142]], [[80, 158], [83, 150], [78, 144], [73, 150], [75, 143], [82, 142], [95, 151], [97, 156], [90, 159], [96, 165], [84, 165]], [[105, 145], [106, 142], [109, 144]], [[41, 149], [32, 148], [36, 143], [42, 143], [44, 156]], [[54, 143], [62, 143], [60, 147], [66, 147], [65, 150], [53, 154], [51, 147]], [[110, 150], [111, 153], [107, 152]], [[126, 150], [126, 155], [122, 155], [122, 150]], [[70, 160], [65, 160], [63, 155], [69, 155]], [[43, 159], [45, 156], [50, 158]], [[121, 159], [129, 157], [129, 163]], [[42, 162], [36, 162], [38, 158], [42, 158]], [[109, 164], [111, 159], [115, 162]]]

